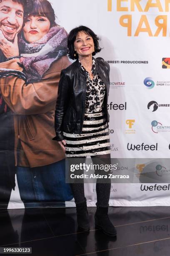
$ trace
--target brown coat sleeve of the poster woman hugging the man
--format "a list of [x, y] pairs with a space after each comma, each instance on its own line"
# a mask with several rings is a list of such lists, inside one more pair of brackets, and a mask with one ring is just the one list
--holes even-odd
[[59, 72], [46, 72], [40, 82], [30, 84], [25, 82], [19, 61], [0, 63], [0, 92], [7, 105], [17, 115], [43, 114], [54, 109], [62, 60]]

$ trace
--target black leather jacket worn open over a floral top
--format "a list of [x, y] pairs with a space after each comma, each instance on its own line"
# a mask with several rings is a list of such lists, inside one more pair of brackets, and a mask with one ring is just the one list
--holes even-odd
[[[99, 74], [106, 86], [106, 94], [103, 102], [104, 113], [109, 122], [107, 100], [109, 95], [110, 67], [105, 61], [95, 59], [94, 74]], [[56, 141], [64, 139], [62, 132], [81, 134], [85, 114], [87, 75], [80, 67], [78, 60], [69, 67], [63, 69], [58, 86], [58, 97], [55, 108], [55, 132]]]

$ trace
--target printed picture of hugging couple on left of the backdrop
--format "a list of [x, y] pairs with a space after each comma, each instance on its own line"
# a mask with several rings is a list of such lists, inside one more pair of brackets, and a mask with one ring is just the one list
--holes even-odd
[[0, 207], [16, 183], [24, 207], [73, 198], [52, 140], [60, 72], [70, 65], [67, 31], [55, 20], [46, 0], [0, 1]]

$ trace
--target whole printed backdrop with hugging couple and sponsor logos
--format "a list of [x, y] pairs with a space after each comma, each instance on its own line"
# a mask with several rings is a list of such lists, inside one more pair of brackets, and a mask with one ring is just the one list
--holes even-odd
[[[110, 64], [111, 156], [136, 159], [133, 184], [112, 183], [110, 206], [170, 205], [161, 160], [170, 153], [169, 9], [169, 0], [0, 0], [1, 208], [75, 206], [52, 138], [67, 36], [79, 25], [101, 38], [95, 57]], [[150, 166], [159, 185], [144, 182]], [[95, 206], [95, 184], [85, 195]]]

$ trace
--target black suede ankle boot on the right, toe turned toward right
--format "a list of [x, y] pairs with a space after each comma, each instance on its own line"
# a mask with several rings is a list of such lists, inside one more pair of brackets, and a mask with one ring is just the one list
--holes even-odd
[[[96, 204], [97, 205], [97, 204]], [[95, 213], [95, 228], [99, 228], [108, 236], [116, 236], [117, 232], [108, 216], [109, 207], [99, 207]]]

